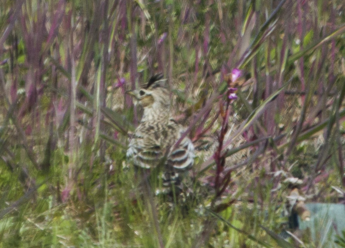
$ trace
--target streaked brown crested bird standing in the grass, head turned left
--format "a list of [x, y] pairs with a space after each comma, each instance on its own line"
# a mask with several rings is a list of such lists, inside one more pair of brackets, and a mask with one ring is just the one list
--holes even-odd
[[126, 157], [137, 169], [159, 169], [165, 187], [181, 189], [182, 175], [194, 164], [194, 145], [184, 135], [186, 129], [172, 117], [170, 92], [163, 77], [156, 74], [140, 89], [127, 91], [144, 112], [129, 139]]

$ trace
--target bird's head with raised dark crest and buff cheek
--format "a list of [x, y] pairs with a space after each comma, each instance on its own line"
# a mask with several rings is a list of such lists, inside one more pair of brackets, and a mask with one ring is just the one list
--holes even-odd
[[166, 79], [163, 75], [156, 74], [150, 77], [147, 84], [138, 90], [127, 91], [134, 98], [134, 104], [145, 108], [166, 109], [170, 105], [169, 91], [166, 88]]

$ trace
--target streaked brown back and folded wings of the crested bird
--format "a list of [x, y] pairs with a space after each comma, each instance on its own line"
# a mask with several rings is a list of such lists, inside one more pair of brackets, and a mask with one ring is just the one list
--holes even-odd
[[151, 169], [162, 165], [168, 170], [187, 170], [194, 162], [193, 143], [185, 137], [175, 148], [183, 133], [182, 126], [171, 118], [141, 122], [129, 142], [127, 157], [141, 168]]

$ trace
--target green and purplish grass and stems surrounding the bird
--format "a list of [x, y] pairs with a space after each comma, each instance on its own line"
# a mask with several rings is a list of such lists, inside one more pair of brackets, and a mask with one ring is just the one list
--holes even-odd
[[[336, 247], [288, 216], [344, 203], [344, 1], [0, 6], [0, 247]], [[125, 159], [125, 91], [158, 72], [201, 200], [182, 214], [157, 196], [155, 217]]]

